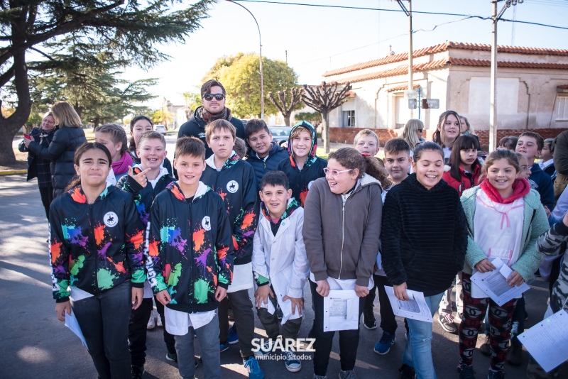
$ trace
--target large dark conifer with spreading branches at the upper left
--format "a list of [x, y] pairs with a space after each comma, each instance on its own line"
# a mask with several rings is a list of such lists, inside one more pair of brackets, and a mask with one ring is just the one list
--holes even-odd
[[[28, 120], [32, 106], [29, 73], [46, 66], [72, 65], [73, 57], [50, 60], [50, 54], [70, 46], [84, 56], [107, 50], [116, 60], [151, 67], [169, 58], [157, 45], [182, 42], [200, 27], [212, 2], [200, 0], [174, 10], [171, 0], [1, 1], [0, 91], [4, 100], [13, 97], [15, 111], [10, 116], [0, 114], [0, 165], [16, 160], [12, 139]], [[28, 62], [29, 50], [48, 59]]]

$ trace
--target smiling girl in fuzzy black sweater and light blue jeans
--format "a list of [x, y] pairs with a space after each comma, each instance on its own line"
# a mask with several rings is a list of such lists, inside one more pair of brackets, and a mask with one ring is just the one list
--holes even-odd
[[[407, 289], [423, 292], [432, 316], [444, 291], [463, 268], [467, 246], [466, 221], [458, 194], [442, 180], [443, 154], [436, 143], [417, 145], [414, 173], [386, 195], [381, 233], [383, 269], [395, 296], [405, 301]], [[400, 378], [436, 378], [432, 323], [407, 321], [409, 331]]]

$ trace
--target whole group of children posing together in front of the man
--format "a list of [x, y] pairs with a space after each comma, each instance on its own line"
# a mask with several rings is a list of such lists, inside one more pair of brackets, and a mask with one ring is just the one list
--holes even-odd
[[[133, 119], [130, 154], [125, 136], [110, 126], [97, 129], [97, 142], [75, 154], [76, 180], [50, 210], [56, 312], [60, 320], [75, 313], [100, 378], [143, 375], [152, 297], [167, 358], [177, 361], [183, 378], [194, 378], [200, 362], [205, 378], [221, 378], [220, 353], [237, 342], [249, 378], [264, 378], [256, 357], [272, 353], [280, 334], [284, 341], [297, 339], [306, 282], [314, 311], [314, 378], [326, 378], [334, 332], [324, 331], [323, 304], [330, 290], [354, 290], [368, 329], [376, 328], [378, 291], [383, 334], [374, 350], [386, 354], [397, 323], [384, 286], [393, 286], [400, 301], [408, 300], [407, 289], [423, 292], [433, 316], [459, 273], [460, 378], [474, 378], [472, 353], [487, 307], [488, 378], [503, 378], [517, 300], [498, 307], [470, 278], [493, 270], [490, 260], [501, 258], [513, 269], [510, 285], [520, 285], [542, 262], [535, 242], [548, 228], [547, 214], [515, 153], [497, 150], [481, 166], [479, 142], [459, 136], [447, 168], [439, 144], [420, 143], [410, 158], [408, 143], [395, 138], [381, 161], [374, 157], [378, 137], [364, 130], [354, 148], [323, 160], [310, 123], [294, 126], [285, 151], [271, 141], [266, 123], [251, 120], [251, 152], [243, 160], [234, 151], [234, 126], [219, 119], [205, 129], [212, 150], [207, 159], [200, 139], [178, 138], [175, 180], [165, 139], [148, 121]], [[442, 135], [440, 141], [448, 140]], [[519, 146], [528, 167], [542, 150], [535, 141], [531, 157], [529, 142]], [[138, 162], [126, 172], [125, 155]], [[107, 182], [111, 173], [116, 185]], [[480, 175], [485, 180], [478, 186]], [[259, 349], [253, 307], [268, 335]], [[432, 324], [407, 321], [400, 378], [436, 378]], [[358, 344], [359, 328], [339, 331], [339, 378], [356, 378]], [[283, 355], [290, 372], [301, 369], [293, 349]]]

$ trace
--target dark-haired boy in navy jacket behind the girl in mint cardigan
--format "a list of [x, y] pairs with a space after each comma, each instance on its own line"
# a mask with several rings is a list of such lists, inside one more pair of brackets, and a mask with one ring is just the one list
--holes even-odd
[[542, 171], [539, 165], [535, 165], [535, 158], [540, 155], [542, 147], [545, 145], [545, 140], [542, 139], [539, 133], [534, 131], [525, 131], [519, 136], [517, 141], [517, 148], [515, 151], [527, 157], [528, 165], [530, 167], [530, 187], [536, 189], [540, 194], [540, 202], [548, 209], [553, 209], [555, 206], [555, 192], [552, 187], [552, 180], [546, 172]]

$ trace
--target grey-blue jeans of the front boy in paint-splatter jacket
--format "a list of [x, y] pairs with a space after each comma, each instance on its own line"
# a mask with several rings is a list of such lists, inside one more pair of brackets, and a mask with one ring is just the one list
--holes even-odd
[[[195, 330], [201, 347], [203, 374], [207, 379], [221, 379], [221, 353], [219, 352], [219, 319], [217, 312], [209, 324]], [[178, 353], [178, 370], [182, 378], [195, 374], [195, 351], [193, 348], [193, 327], [185, 336], [174, 336], [175, 351]]]

